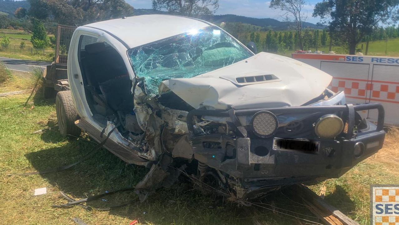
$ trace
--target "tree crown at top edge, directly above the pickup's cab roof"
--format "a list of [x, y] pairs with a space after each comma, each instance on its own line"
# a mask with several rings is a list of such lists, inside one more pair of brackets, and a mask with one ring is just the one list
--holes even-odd
[[152, 0], [152, 8], [166, 9], [172, 14], [201, 17], [216, 12], [219, 8], [219, 0]]

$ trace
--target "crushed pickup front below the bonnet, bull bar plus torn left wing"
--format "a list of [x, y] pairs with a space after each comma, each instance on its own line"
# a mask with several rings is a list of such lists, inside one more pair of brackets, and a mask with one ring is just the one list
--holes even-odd
[[[242, 110], [177, 110], [138, 87], [135, 96], [136, 115], [146, 118], [138, 121], [147, 123], [146, 138], [158, 156], [137, 185], [142, 200], [185, 169], [224, 193], [256, 199], [283, 185], [340, 177], [381, 149], [385, 137], [382, 106], [342, 104], [342, 92], [326, 90], [306, 106]], [[365, 110], [378, 110], [377, 125], [362, 119]], [[320, 123], [326, 115], [337, 119], [329, 125], [339, 131], [334, 137]], [[340, 121], [342, 127], [334, 127]]]

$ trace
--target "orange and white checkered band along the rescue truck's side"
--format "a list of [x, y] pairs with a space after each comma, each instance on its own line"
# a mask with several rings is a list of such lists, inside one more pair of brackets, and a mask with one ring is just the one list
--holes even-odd
[[399, 104], [399, 84], [360, 79], [333, 78], [330, 86], [333, 92], [344, 91], [348, 98]]

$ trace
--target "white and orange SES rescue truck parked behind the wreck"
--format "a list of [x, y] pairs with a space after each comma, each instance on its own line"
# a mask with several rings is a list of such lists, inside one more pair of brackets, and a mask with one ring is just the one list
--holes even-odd
[[[292, 58], [333, 76], [328, 88], [344, 91], [348, 103], [381, 103], [385, 123], [399, 125], [399, 58], [313, 53], [293, 53]], [[377, 121], [377, 110], [365, 113]]]

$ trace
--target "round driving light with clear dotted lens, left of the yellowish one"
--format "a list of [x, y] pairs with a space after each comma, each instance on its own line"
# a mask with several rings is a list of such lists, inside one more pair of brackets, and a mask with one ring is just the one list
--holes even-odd
[[252, 117], [253, 132], [259, 137], [270, 137], [276, 133], [279, 121], [275, 114], [269, 111], [260, 111]]

